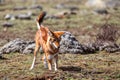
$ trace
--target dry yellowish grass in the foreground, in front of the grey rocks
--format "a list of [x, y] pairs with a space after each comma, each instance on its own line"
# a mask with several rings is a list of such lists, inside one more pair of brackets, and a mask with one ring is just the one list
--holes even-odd
[[0, 61], [0, 78], [12, 80], [30, 80], [53, 75], [54, 79], [64, 80], [119, 80], [119, 54], [101, 52], [98, 54], [60, 54], [58, 72], [49, 72], [44, 69], [41, 57], [38, 55], [35, 68], [29, 70], [33, 55], [11, 53], [5, 54], [6, 59]]

